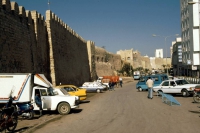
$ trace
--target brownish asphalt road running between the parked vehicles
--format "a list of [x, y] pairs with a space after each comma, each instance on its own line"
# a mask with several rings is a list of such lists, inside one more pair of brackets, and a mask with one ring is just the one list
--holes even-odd
[[80, 109], [47, 123], [34, 133], [197, 133], [200, 112], [192, 97], [175, 96], [181, 106], [169, 106], [161, 97], [147, 99], [135, 83], [106, 91], [80, 104]]

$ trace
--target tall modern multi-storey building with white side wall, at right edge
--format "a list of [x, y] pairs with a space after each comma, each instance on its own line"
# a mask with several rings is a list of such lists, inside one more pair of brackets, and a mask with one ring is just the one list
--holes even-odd
[[[196, 2], [188, 4], [188, 2]], [[199, 44], [199, 0], [180, 0], [181, 38], [182, 38], [182, 74], [198, 76], [200, 70]]]

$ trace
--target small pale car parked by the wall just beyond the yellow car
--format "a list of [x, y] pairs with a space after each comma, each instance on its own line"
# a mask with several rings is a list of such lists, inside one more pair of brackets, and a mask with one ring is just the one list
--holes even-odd
[[99, 82], [85, 82], [81, 87], [87, 90], [87, 92], [100, 93], [106, 89], [105, 85], [101, 85]]

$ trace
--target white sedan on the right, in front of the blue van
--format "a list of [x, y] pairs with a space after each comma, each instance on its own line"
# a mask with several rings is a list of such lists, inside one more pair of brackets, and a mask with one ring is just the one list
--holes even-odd
[[159, 86], [153, 87], [155, 92], [182, 94], [184, 97], [193, 94], [195, 86], [184, 79], [165, 80]]

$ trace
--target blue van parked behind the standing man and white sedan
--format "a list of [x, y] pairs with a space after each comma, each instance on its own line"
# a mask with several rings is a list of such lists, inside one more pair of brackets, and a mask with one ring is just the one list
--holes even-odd
[[155, 75], [142, 76], [142, 77], [140, 77], [138, 83], [136, 84], [136, 89], [138, 89], [138, 91], [148, 90], [146, 82], [149, 77], [151, 77], [151, 79], [154, 81], [154, 86], [158, 86], [161, 84], [162, 81], [169, 79], [166, 74], [155, 74]]

